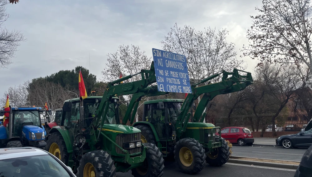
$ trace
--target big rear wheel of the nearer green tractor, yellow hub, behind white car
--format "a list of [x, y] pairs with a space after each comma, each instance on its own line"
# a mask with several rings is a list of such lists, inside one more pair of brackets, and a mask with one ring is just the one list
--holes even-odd
[[68, 165], [69, 153], [67, 152], [64, 138], [60, 132], [54, 132], [47, 137], [46, 151], [56, 156], [65, 165]]

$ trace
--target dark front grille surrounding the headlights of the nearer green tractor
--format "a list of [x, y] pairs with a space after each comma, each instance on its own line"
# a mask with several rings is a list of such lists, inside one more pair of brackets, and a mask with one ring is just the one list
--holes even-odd
[[[116, 143], [123, 148], [124, 143], [141, 140], [141, 132], [140, 133], [133, 133], [133, 134], [118, 134], [116, 136]], [[119, 149], [117, 146], [115, 146], [116, 152], [118, 154], [124, 154], [121, 149]], [[128, 150], [129, 154], [141, 152], [141, 147], [135, 147], [132, 149], [126, 149]]]

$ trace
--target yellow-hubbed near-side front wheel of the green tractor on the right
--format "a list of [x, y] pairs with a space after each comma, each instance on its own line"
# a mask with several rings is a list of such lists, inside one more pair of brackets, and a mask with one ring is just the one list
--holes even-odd
[[186, 174], [196, 174], [206, 165], [205, 150], [194, 138], [183, 138], [177, 142], [174, 147], [174, 159], [180, 170]]

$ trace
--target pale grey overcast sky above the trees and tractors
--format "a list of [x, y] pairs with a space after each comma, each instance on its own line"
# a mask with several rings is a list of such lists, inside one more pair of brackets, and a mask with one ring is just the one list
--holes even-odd
[[[227, 28], [227, 40], [236, 44], [240, 57], [256, 6], [261, 0], [20, 0], [7, 5], [11, 17], [4, 25], [21, 31], [27, 41], [13, 63], [0, 68], [0, 93], [60, 70], [89, 69], [89, 52], [91, 73], [100, 80], [108, 53], [134, 44], [152, 57], [152, 48], [162, 48], [160, 41], [175, 22], [196, 30]], [[256, 61], [243, 60], [251, 72]]]

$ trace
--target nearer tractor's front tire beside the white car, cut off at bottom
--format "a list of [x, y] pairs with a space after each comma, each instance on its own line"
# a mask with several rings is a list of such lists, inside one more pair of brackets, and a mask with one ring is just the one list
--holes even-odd
[[[94, 150], [85, 153], [80, 160], [77, 177], [115, 177], [115, 161], [104, 150]], [[92, 174], [92, 175], [91, 175]]]

